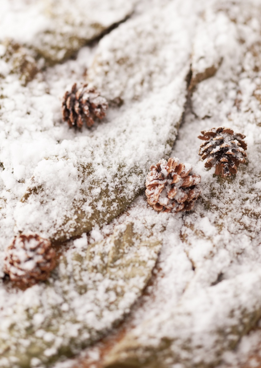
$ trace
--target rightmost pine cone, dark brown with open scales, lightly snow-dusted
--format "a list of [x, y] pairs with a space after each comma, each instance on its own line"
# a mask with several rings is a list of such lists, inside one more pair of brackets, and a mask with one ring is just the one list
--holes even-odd
[[205, 142], [200, 146], [199, 155], [207, 159], [205, 167], [215, 166], [215, 174], [221, 174], [222, 178], [236, 174], [239, 164], [246, 162], [247, 144], [243, 140], [246, 136], [224, 127], [203, 130], [201, 134], [199, 139]]

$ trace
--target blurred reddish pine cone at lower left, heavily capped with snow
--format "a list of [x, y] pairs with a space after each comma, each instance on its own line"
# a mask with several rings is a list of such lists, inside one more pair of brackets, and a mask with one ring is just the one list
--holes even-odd
[[37, 234], [20, 234], [6, 252], [4, 272], [18, 286], [31, 286], [46, 280], [56, 266], [56, 252], [51, 248], [50, 241]]

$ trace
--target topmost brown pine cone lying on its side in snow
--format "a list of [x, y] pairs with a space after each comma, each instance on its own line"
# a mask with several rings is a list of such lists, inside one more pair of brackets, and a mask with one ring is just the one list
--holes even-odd
[[102, 119], [108, 109], [107, 100], [100, 96], [94, 88], [87, 88], [87, 84], [77, 88], [76, 83], [71, 92], [65, 92], [62, 102], [62, 117], [69, 127], [81, 128], [85, 121], [87, 127], [94, 124], [94, 118]]

